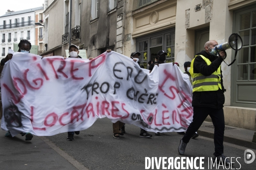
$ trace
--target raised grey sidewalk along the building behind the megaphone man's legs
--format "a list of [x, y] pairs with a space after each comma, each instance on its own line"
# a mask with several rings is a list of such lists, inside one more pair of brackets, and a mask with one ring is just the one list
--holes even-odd
[[[256, 149], [256, 143], [252, 142], [255, 130], [248, 130], [239, 127], [225, 125], [224, 142], [236, 144], [251, 149]], [[212, 138], [214, 136], [214, 126], [212, 122], [206, 122], [198, 130], [200, 136]]]

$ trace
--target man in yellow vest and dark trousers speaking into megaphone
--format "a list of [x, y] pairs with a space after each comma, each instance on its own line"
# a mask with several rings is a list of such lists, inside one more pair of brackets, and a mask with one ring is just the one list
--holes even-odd
[[[218, 56], [214, 48], [218, 46], [218, 42], [210, 40], [205, 43], [204, 51], [196, 54], [191, 62], [189, 73], [192, 77], [193, 87], [193, 121], [190, 123], [186, 134], [180, 140], [178, 152], [180, 155], [185, 153], [186, 144], [189, 142], [193, 134], [199, 129], [206, 117], [212, 118], [214, 125], [214, 157], [217, 161], [226, 159], [223, 155], [223, 139], [224, 139], [224, 112], [223, 104], [225, 102], [221, 62], [226, 57], [225, 51], [218, 50]], [[226, 165], [230, 165], [229, 159], [225, 160]]]

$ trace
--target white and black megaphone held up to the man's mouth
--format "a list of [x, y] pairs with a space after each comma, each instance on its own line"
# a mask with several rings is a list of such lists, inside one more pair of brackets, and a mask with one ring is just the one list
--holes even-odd
[[[224, 51], [229, 49], [229, 48], [232, 48], [233, 50], [236, 50], [236, 53], [235, 53], [235, 59], [233, 60], [233, 62], [230, 63], [230, 65], [232, 65], [235, 61], [236, 61], [236, 54], [237, 54], [237, 51], [241, 50], [241, 48], [243, 47], [243, 40], [242, 38], [234, 33], [234, 34], [231, 34], [230, 37], [228, 38], [228, 41], [227, 42], [224, 42], [220, 45], [216, 45], [215, 48], [214, 48], [214, 52], [215, 54], [219, 54], [219, 51]], [[226, 59], [227, 57], [227, 53], [225, 52], [225, 56], [223, 57], [223, 59]], [[228, 66], [230, 66], [228, 65]]]

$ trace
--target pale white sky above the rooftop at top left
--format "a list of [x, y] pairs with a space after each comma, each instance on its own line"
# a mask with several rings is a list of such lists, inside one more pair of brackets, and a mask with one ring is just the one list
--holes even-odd
[[44, 0], [0, 0], [0, 16], [7, 10], [21, 11], [43, 6]]

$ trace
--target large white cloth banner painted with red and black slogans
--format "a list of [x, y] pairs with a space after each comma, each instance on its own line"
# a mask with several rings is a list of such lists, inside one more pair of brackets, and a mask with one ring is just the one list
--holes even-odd
[[15, 136], [84, 130], [98, 118], [153, 132], [186, 131], [192, 121], [189, 77], [172, 63], [151, 74], [111, 51], [93, 60], [16, 52], [1, 75], [1, 128]]

